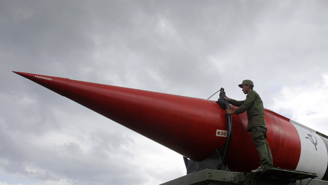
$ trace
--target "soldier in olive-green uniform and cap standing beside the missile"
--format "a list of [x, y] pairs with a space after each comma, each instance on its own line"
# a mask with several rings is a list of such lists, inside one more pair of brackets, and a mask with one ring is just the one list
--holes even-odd
[[238, 108], [234, 111], [227, 109], [225, 112], [229, 115], [240, 114], [245, 111], [247, 112], [247, 132], [252, 132], [254, 145], [258, 151], [261, 161], [261, 166], [256, 170], [252, 170], [252, 173], [263, 171], [269, 167], [274, 167], [271, 150], [266, 140], [267, 127], [264, 120], [263, 102], [260, 96], [253, 90], [254, 84], [252, 81], [244, 80], [238, 86], [242, 88], [244, 94], [247, 94], [246, 100], [236, 101], [226, 97], [230, 104], [237, 106]]

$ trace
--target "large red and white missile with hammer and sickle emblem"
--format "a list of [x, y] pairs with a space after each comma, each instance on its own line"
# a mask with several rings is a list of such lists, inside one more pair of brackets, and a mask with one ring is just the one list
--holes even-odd
[[[81, 104], [153, 141], [203, 161], [227, 142], [227, 117], [216, 101], [165, 94], [68, 78], [15, 72]], [[231, 105], [234, 110], [237, 107]], [[328, 180], [328, 137], [293, 120], [265, 110], [274, 166], [317, 173]], [[227, 164], [231, 171], [259, 166], [247, 114], [234, 114]]]

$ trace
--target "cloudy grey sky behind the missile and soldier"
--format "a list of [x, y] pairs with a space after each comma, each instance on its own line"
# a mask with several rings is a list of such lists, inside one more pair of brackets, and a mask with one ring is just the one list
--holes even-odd
[[[0, 0], [0, 185], [153, 185], [182, 156], [11, 71], [207, 99], [254, 82], [328, 135], [328, 1]], [[211, 100], [217, 100], [215, 95]]]

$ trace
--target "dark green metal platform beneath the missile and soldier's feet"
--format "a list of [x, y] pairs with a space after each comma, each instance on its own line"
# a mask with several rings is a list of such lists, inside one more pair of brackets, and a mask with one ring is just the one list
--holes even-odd
[[204, 169], [161, 185], [328, 185], [328, 181], [314, 179], [317, 176], [316, 173], [280, 168], [268, 168], [257, 173]]

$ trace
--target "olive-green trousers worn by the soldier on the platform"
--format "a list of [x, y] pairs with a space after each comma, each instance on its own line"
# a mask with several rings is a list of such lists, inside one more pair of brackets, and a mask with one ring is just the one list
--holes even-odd
[[252, 131], [254, 145], [260, 157], [260, 161], [261, 161], [260, 165], [264, 168], [274, 167], [271, 150], [266, 140], [268, 138], [266, 135], [267, 128], [262, 126], [257, 126], [257, 127], [252, 127], [251, 131]]

